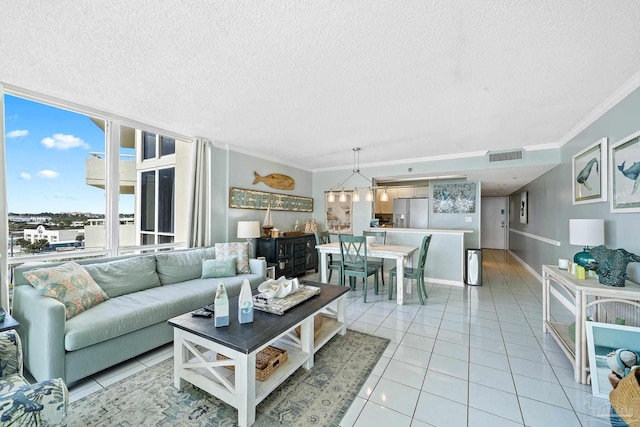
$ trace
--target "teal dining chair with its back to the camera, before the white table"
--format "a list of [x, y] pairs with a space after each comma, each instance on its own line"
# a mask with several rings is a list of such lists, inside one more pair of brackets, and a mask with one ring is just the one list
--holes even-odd
[[340, 255], [342, 256], [342, 275], [349, 277], [351, 289], [356, 287], [356, 278], [364, 279], [364, 302], [367, 302], [367, 278], [373, 276], [376, 295], [378, 295], [378, 271], [380, 266], [370, 265], [367, 260], [367, 240], [365, 236], [338, 235]]

